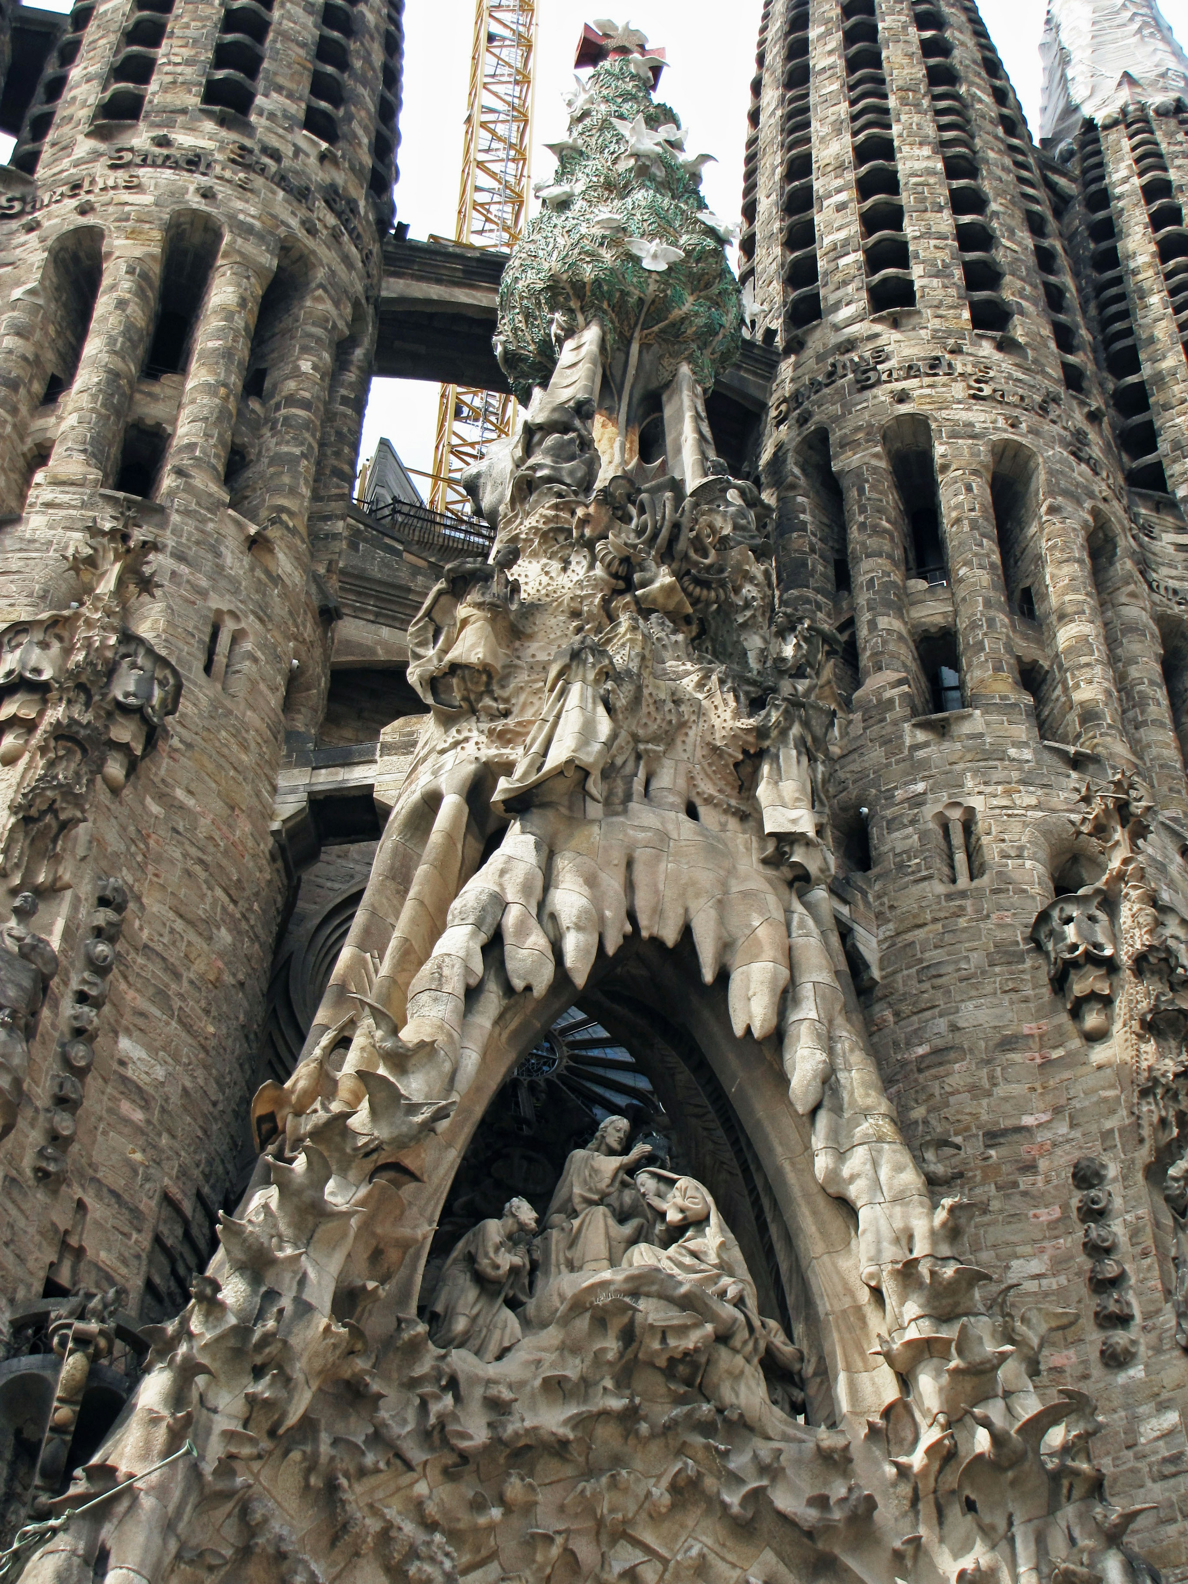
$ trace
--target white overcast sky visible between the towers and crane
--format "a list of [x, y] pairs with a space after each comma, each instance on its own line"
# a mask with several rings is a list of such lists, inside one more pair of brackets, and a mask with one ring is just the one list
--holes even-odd
[[[661, 93], [691, 127], [689, 146], [718, 157], [716, 165], [706, 166], [702, 184], [710, 208], [722, 217], [735, 217], [741, 201], [746, 106], [762, 0], [730, 0], [729, 5], [721, 0], [634, 0], [629, 17], [615, 10], [618, 3], [623, 0], [537, 0], [534, 179], [546, 176], [554, 165], [543, 144], [565, 131], [561, 89], [572, 82], [581, 24], [594, 14], [615, 16], [623, 22], [630, 19], [653, 44], [665, 48], [670, 68], [664, 73]], [[1188, 44], [1188, 0], [1159, 3], [1175, 35]], [[68, 11], [71, 0], [43, 0], [43, 5]], [[979, 0], [979, 6], [1034, 131], [1039, 125], [1044, 0]], [[409, 222], [412, 236], [453, 236], [474, 11], [474, 0], [406, 0], [404, 141], [396, 209], [398, 219]], [[0, 157], [6, 157], [2, 147], [6, 143], [0, 139]], [[361, 456], [369, 456], [375, 440], [388, 436], [410, 467], [428, 470], [436, 421], [437, 386], [375, 380]]]

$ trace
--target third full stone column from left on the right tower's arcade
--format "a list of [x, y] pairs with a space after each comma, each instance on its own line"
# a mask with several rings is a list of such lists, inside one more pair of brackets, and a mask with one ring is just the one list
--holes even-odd
[[1039, 551], [1050, 610], [1047, 640], [1072, 703], [1077, 744], [1101, 744], [1107, 757], [1114, 757], [1110, 748], [1117, 744], [1129, 759], [1087, 532], [1085, 523], [1063, 515], [1058, 507], [1041, 508]]

